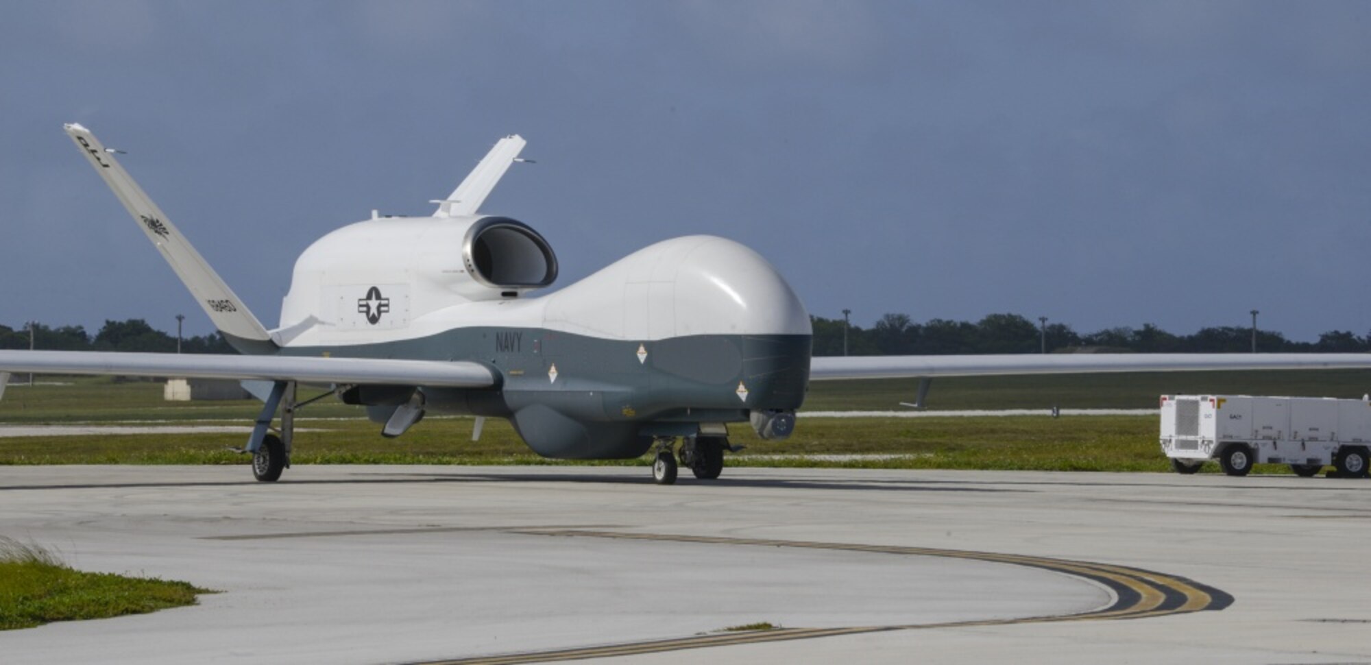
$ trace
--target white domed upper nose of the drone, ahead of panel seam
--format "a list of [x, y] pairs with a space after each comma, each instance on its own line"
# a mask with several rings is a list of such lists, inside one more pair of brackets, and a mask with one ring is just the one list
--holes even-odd
[[676, 265], [676, 335], [810, 335], [809, 313], [760, 254], [723, 237], [699, 240]]

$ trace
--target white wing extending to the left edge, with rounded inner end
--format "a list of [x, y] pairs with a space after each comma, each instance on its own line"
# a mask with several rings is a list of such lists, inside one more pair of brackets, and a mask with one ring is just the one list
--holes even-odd
[[321, 384], [491, 388], [495, 374], [476, 362], [315, 358], [285, 355], [0, 351], [0, 372], [236, 378]]

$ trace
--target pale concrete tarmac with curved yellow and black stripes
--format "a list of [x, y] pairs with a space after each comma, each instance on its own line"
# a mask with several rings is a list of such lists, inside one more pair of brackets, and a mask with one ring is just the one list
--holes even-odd
[[[1368, 662], [1368, 480], [0, 468], [0, 535], [200, 605], [5, 664]], [[1120, 618], [1131, 617], [1131, 618]], [[781, 631], [725, 632], [771, 622]], [[574, 651], [581, 649], [581, 651]]]

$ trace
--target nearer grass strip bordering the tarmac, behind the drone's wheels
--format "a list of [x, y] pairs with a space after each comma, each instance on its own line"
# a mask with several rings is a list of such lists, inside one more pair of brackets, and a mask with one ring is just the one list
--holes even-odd
[[[400, 439], [383, 439], [380, 425], [333, 421], [296, 433], [296, 465], [537, 465], [638, 466], [647, 458], [558, 461], [533, 454], [509, 422], [492, 420], [472, 442], [472, 420], [430, 420]], [[728, 465], [842, 469], [999, 469], [1169, 472], [1157, 446], [1154, 415], [805, 418], [784, 442], [729, 428], [742, 454]], [[0, 439], [0, 465], [129, 463], [245, 465], [233, 452], [241, 433], [145, 433]], [[1217, 473], [1217, 465], [1205, 465]], [[1257, 465], [1254, 473], [1286, 474], [1285, 465]]]

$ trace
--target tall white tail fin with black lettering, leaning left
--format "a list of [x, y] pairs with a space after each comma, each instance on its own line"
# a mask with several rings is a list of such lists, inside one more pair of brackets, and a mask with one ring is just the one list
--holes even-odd
[[114, 159], [114, 151], [107, 149], [89, 129], [81, 125], [66, 125], [66, 130], [229, 343], [243, 352], [274, 350], [276, 344], [266, 328], [248, 311], [243, 300], [239, 300], [233, 289], [223, 284], [218, 273], [204, 262], [200, 252], [191, 247], [185, 236], [158, 208], [158, 204], [148, 199], [143, 188], [129, 177], [129, 171], [119, 166], [119, 162]]

